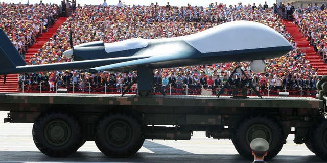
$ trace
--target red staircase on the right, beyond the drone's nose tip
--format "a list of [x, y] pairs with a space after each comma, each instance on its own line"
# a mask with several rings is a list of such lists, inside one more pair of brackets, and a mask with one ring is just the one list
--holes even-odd
[[283, 24], [285, 25], [286, 30], [293, 36], [297, 47], [306, 52], [306, 58], [310, 61], [311, 66], [313, 68], [318, 68], [318, 75], [327, 75], [327, 64], [323, 63], [320, 56], [316, 54], [313, 46], [309, 45], [307, 38], [303, 37], [302, 33], [299, 32], [299, 28], [294, 24], [294, 22], [283, 20]]

